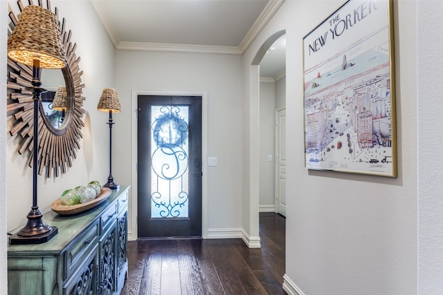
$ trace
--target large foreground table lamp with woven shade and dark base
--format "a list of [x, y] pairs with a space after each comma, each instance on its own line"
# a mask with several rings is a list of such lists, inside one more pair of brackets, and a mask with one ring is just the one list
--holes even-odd
[[11, 244], [39, 244], [57, 234], [57, 227], [46, 225], [37, 206], [37, 166], [39, 137], [39, 100], [46, 89], [41, 88], [42, 68], [64, 68], [65, 52], [60, 39], [60, 28], [53, 12], [42, 6], [26, 6], [19, 22], [8, 39], [8, 57], [13, 61], [33, 67], [34, 121], [33, 121], [33, 206], [28, 213], [28, 222], [17, 234], [10, 237]]

